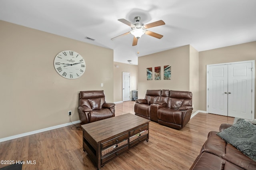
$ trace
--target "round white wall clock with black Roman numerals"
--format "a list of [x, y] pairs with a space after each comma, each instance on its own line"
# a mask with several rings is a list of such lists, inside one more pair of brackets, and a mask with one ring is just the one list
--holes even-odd
[[59, 75], [66, 79], [77, 79], [82, 76], [85, 67], [83, 57], [75, 51], [61, 51], [54, 59], [54, 68]]

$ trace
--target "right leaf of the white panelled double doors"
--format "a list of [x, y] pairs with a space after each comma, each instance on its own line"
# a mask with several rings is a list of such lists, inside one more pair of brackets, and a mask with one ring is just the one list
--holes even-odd
[[228, 116], [252, 118], [252, 63], [228, 65]]

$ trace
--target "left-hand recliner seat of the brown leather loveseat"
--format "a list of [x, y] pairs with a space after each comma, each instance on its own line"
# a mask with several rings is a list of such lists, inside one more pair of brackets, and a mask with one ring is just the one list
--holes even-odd
[[150, 120], [150, 105], [160, 101], [161, 90], [147, 90], [144, 99], [136, 99], [134, 105], [135, 115]]

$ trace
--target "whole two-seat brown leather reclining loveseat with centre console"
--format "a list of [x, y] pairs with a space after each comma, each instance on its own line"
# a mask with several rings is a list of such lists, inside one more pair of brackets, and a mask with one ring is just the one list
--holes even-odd
[[136, 99], [135, 115], [161, 125], [181, 129], [192, 113], [192, 93], [189, 91], [147, 90], [144, 99]]

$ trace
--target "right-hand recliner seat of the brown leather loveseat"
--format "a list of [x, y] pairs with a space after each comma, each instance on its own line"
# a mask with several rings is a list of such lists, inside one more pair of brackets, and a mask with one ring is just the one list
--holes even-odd
[[[162, 103], [158, 104], [164, 105]], [[192, 110], [191, 92], [170, 90], [166, 105], [157, 110], [158, 123], [168, 127], [182, 129], [190, 120]]]

